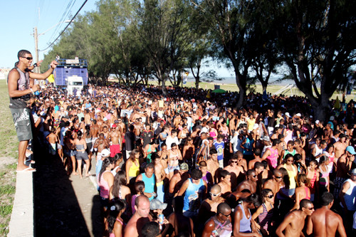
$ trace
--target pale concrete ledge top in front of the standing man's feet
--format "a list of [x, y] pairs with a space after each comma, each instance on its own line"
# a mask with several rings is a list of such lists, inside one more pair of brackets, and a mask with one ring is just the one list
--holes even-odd
[[33, 208], [33, 172], [17, 173], [9, 237], [34, 236]]

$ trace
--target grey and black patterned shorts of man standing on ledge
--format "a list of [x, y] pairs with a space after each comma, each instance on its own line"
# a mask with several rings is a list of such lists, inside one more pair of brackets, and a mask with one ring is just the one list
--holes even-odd
[[19, 141], [32, 139], [32, 115], [28, 108], [10, 108]]

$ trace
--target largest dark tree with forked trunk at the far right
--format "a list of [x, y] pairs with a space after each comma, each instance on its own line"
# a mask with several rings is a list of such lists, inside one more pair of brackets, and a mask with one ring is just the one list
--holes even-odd
[[350, 66], [355, 65], [355, 1], [278, 1], [279, 49], [295, 85], [325, 120], [328, 102]]

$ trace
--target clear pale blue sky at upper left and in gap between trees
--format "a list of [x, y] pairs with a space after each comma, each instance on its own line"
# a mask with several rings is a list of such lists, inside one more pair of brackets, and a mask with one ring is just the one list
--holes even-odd
[[[60, 23], [72, 19], [85, 0], [3, 0], [0, 9], [0, 68], [13, 68], [17, 61], [17, 53], [26, 49], [35, 58], [35, 41], [33, 28], [37, 27], [39, 60], [43, 60], [46, 49], [68, 23]], [[96, 10], [97, 0], [88, 0], [79, 14]], [[54, 27], [53, 27], [54, 26]], [[53, 27], [53, 28], [52, 28]], [[59, 41], [59, 40], [58, 40]], [[58, 43], [58, 41], [56, 41]], [[54, 58], [53, 58], [54, 60]], [[233, 70], [227, 70], [217, 63], [211, 63], [207, 69], [213, 68], [219, 77], [230, 77]]]

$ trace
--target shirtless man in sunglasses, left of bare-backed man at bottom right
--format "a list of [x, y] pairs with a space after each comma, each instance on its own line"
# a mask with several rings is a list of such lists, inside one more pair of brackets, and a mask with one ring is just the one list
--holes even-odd
[[[314, 205], [308, 199], [303, 199], [300, 201], [300, 209], [291, 211], [284, 218], [281, 225], [278, 226], [276, 234], [279, 237], [299, 237], [304, 236], [303, 228], [305, 223], [305, 218], [311, 216], [314, 212]], [[283, 233], [285, 231], [285, 233]]]

